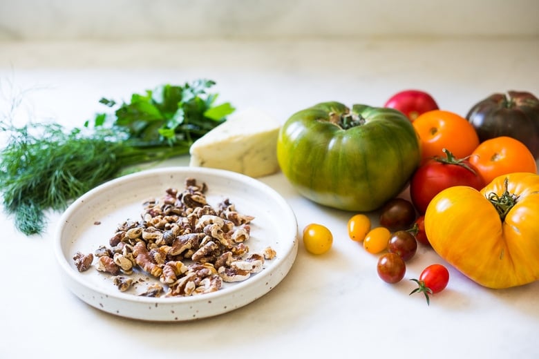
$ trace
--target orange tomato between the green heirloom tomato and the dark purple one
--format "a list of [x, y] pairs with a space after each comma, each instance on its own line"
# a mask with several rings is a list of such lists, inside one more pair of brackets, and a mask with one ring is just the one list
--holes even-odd
[[432, 110], [412, 123], [422, 145], [422, 159], [444, 157], [444, 148], [457, 158], [469, 156], [479, 145], [473, 125], [464, 117], [445, 110]]

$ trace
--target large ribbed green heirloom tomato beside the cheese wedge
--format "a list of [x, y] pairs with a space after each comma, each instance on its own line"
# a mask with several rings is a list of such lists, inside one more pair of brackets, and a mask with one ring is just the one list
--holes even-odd
[[419, 137], [393, 108], [323, 102], [285, 122], [281, 170], [301, 195], [346, 211], [373, 211], [397, 196], [421, 161]]

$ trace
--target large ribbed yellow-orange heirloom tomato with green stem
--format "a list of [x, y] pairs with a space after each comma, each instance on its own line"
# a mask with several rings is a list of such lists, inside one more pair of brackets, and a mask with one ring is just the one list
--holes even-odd
[[444, 260], [484, 287], [539, 280], [539, 175], [502, 175], [481, 191], [447, 188], [428, 204], [425, 231]]

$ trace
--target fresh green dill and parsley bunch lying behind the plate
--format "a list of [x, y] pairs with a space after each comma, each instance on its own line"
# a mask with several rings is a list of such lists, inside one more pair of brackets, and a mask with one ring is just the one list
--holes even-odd
[[35, 123], [17, 127], [9, 118], [0, 129], [8, 144], [0, 157], [0, 188], [6, 212], [26, 235], [41, 233], [47, 209], [62, 210], [91, 188], [122, 174], [129, 166], [189, 153], [189, 147], [234, 111], [216, 105], [211, 80], [164, 85], [133, 94], [128, 103], [100, 103], [81, 128]]

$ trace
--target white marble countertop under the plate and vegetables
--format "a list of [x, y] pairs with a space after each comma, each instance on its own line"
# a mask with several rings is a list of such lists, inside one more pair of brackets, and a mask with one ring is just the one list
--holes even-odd
[[[101, 97], [126, 98], [159, 84], [217, 81], [220, 99], [256, 106], [281, 121], [319, 101], [381, 106], [405, 88], [427, 90], [466, 115], [493, 92], [539, 94], [539, 40], [357, 39], [343, 41], [164, 41], [0, 43], [2, 106], [19, 91], [18, 118], [80, 126]], [[2, 107], [3, 108], [3, 107]], [[3, 108], [5, 110], [6, 108]], [[171, 162], [185, 165], [187, 157]], [[56, 222], [41, 236], [15, 231], [0, 213], [3, 286], [1, 358], [536, 358], [539, 282], [489, 290], [450, 269], [448, 288], [427, 306], [408, 296], [424, 266], [442, 262], [419, 247], [405, 280], [390, 285], [376, 256], [348, 239], [350, 213], [300, 197], [281, 173], [263, 177], [292, 206], [300, 229], [334, 233], [321, 256], [300, 244], [289, 275], [246, 307], [193, 322], [140, 322], [88, 306], [59, 278]], [[375, 216], [373, 215], [373, 219]]]

